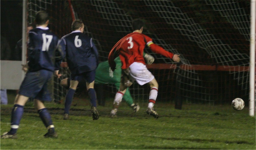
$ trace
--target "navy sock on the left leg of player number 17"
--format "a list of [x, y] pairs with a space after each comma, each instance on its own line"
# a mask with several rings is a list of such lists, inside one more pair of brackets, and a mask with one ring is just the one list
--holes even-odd
[[15, 134], [19, 128], [20, 120], [24, 112], [24, 106], [15, 104], [12, 108], [12, 118], [11, 118], [11, 130], [10, 134]]

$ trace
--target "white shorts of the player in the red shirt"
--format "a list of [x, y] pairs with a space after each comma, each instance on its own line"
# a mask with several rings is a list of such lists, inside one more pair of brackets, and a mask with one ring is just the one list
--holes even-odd
[[129, 68], [131, 77], [133, 78], [133, 80], [136, 80], [136, 82], [140, 85], [149, 83], [155, 78], [154, 75], [152, 75], [152, 73], [148, 71], [146, 65], [140, 62], [132, 63]]

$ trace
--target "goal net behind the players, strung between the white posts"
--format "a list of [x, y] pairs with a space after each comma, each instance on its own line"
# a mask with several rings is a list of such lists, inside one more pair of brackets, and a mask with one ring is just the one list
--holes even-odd
[[[72, 12], [82, 19], [85, 32], [93, 38], [100, 60], [108, 59], [111, 48], [132, 32], [131, 22], [143, 19], [143, 33], [165, 50], [180, 54], [181, 63], [145, 49], [155, 62], [148, 69], [159, 84], [157, 101], [231, 104], [235, 98], [249, 99], [250, 1], [248, 0], [86, 0], [28, 1], [28, 21], [35, 12], [47, 10], [50, 29], [60, 38], [71, 32]], [[64, 64], [65, 65], [65, 64]], [[65, 98], [55, 79], [55, 99]], [[115, 93], [109, 84], [105, 91]], [[134, 83], [135, 102], [148, 102], [149, 87]], [[113, 96], [114, 98], [114, 96]]]

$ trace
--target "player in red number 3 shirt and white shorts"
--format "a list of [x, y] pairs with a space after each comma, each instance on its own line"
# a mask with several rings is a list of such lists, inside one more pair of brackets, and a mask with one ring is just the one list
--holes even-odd
[[154, 104], [158, 93], [158, 83], [154, 75], [148, 71], [145, 65], [145, 60], [143, 58], [145, 45], [155, 53], [170, 58], [175, 62], [180, 62], [180, 55], [164, 50], [162, 47], [154, 44], [150, 37], [142, 34], [143, 26], [144, 22], [142, 20], [133, 20], [133, 33], [124, 36], [120, 41], [118, 41], [108, 55], [108, 63], [113, 71], [116, 67], [114, 59], [120, 56], [122, 61], [121, 85], [114, 99], [111, 116], [116, 115], [116, 108], [122, 101], [126, 88], [131, 86], [136, 80], [140, 85], [144, 85], [146, 83], [149, 84], [151, 90], [149, 93], [147, 114], [150, 114], [155, 118], [159, 118], [158, 113], [154, 110]]

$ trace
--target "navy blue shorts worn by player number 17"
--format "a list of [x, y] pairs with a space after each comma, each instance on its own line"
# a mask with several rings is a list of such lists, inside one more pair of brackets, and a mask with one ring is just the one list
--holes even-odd
[[49, 70], [27, 72], [20, 85], [19, 94], [41, 101], [51, 101], [52, 75], [53, 72]]

